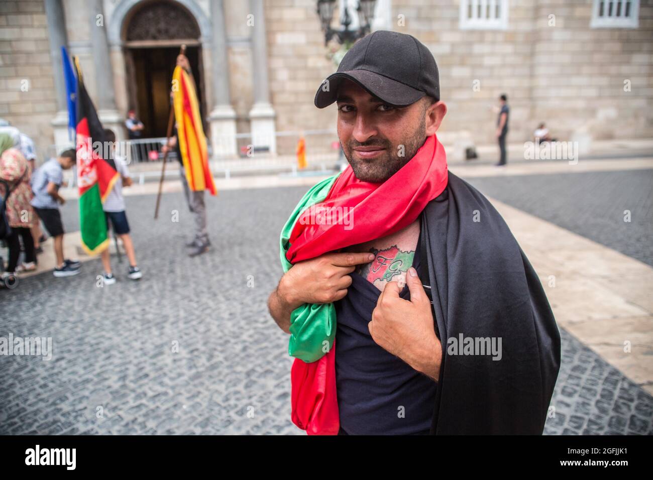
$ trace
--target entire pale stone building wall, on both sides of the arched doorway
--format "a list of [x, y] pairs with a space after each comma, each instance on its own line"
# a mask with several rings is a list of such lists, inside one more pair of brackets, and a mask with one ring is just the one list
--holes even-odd
[[[505, 30], [461, 29], [460, 0], [392, 0], [389, 14], [383, 12], [390, 18], [390, 29], [414, 35], [436, 57], [442, 99], [449, 107], [441, 128], [443, 141], [467, 135], [476, 144], [494, 142], [500, 93], [507, 93], [511, 105], [510, 142], [529, 140], [539, 121], [546, 121], [561, 139], [651, 135], [653, 0], [641, 0], [636, 29], [591, 28], [590, 0], [509, 3]], [[69, 52], [80, 57], [95, 98], [87, 4], [82, 0], [63, 4]], [[110, 20], [114, 6], [105, 5]], [[207, 1], [200, 0], [199, 5], [209, 11]], [[336, 70], [324, 46], [315, 0], [266, 0], [264, 5], [277, 131], [334, 129], [336, 107], [313, 106], [316, 89]], [[249, 131], [256, 74], [247, 13], [248, 2], [225, 0], [231, 98], [240, 132]], [[336, 11], [334, 26], [337, 18]], [[0, 117], [32, 136], [41, 155], [53, 143], [50, 121], [56, 114], [49, 53], [43, 1], [0, 1]], [[112, 63], [116, 102], [125, 110], [119, 47], [112, 50]], [[208, 85], [210, 69], [204, 74]], [[624, 82], [629, 91], [624, 91]], [[334, 139], [334, 135], [307, 137], [327, 150]], [[293, 137], [288, 142], [289, 148], [294, 141]], [[279, 150], [285, 153], [287, 148], [281, 144]]]

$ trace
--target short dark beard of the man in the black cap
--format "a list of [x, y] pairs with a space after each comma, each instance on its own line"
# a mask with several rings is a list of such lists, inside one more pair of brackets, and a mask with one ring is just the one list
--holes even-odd
[[[396, 174], [408, 161], [415, 156], [417, 150], [426, 141], [426, 121], [422, 117], [422, 121], [413, 135], [404, 144], [404, 156], [399, 156], [398, 145], [391, 145], [385, 139], [371, 139], [364, 144], [352, 140], [343, 148], [345, 157], [354, 170], [354, 174], [361, 182], [371, 182], [379, 184], [385, 182], [392, 175]], [[352, 153], [355, 147], [360, 146], [378, 146], [385, 148], [383, 155], [375, 159], [358, 159], [354, 158]]]

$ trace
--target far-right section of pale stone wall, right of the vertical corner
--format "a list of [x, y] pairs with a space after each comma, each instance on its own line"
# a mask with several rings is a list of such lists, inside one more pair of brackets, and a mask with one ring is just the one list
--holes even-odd
[[650, 137], [653, 1], [641, 0], [636, 29], [590, 28], [592, 3], [584, 0], [540, 1], [536, 15], [533, 120], [564, 136]]

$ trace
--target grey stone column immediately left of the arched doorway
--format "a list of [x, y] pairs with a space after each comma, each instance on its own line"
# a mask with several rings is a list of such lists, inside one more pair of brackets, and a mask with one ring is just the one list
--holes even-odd
[[102, 0], [89, 2], [89, 22], [91, 22], [91, 51], [97, 89], [97, 99], [95, 99], [97, 116], [104, 128], [112, 129], [116, 133], [116, 140], [121, 141], [125, 139], [125, 118], [116, 108], [114, 76], [109, 56], [109, 42], [106, 38]]

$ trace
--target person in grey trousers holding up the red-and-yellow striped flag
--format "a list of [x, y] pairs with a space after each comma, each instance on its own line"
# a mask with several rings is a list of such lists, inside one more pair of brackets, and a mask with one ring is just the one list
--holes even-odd
[[[178, 67], [182, 67], [182, 69], [190, 76], [191, 80], [193, 80], [191, 65], [185, 55], [180, 54], [177, 57], [177, 65]], [[172, 95], [170, 96], [172, 98]], [[182, 151], [179, 146], [177, 128], [174, 129], [174, 135], [170, 136], [168, 144], [163, 146], [163, 152], [165, 153], [168, 149], [172, 148], [174, 148], [180, 164], [179, 172], [182, 179], [184, 196], [188, 202], [188, 208], [191, 214], [193, 214], [193, 223], [195, 223], [195, 232], [193, 238], [191, 238], [191, 240], [189, 240], [185, 246], [189, 248], [189, 257], [195, 257], [208, 251], [211, 245], [211, 241], [208, 238], [208, 230], [206, 229], [206, 204], [204, 202], [204, 189], [195, 190], [191, 189], [191, 187], [188, 185], [186, 171], [183, 166]]]

